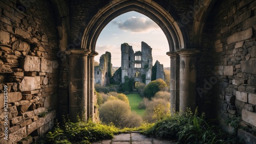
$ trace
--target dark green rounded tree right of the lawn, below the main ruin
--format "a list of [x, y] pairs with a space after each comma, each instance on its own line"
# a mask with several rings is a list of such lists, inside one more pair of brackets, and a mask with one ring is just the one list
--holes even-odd
[[163, 79], [153, 80], [145, 86], [144, 93], [148, 99], [151, 99], [157, 92], [167, 87]]

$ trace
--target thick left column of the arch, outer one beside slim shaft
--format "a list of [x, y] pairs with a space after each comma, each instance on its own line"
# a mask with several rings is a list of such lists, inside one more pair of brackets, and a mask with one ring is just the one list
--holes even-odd
[[90, 49], [72, 49], [69, 56], [69, 117], [87, 120], [87, 60]]

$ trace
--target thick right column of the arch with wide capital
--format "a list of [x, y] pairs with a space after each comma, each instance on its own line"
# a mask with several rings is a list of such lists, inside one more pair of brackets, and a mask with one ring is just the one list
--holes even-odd
[[196, 108], [196, 54], [197, 49], [180, 49], [180, 112], [183, 113], [190, 107]]

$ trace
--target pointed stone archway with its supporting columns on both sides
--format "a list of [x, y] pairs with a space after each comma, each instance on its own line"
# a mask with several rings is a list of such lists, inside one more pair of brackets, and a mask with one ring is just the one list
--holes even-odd
[[[71, 117], [92, 117], [94, 111], [94, 56], [97, 54], [95, 45], [104, 26], [115, 17], [136, 11], [154, 20], [164, 32], [168, 44], [170, 56], [171, 77], [170, 88], [172, 100], [171, 108], [174, 111], [186, 111], [186, 107], [195, 107], [196, 101], [196, 57], [198, 50], [187, 47], [189, 43], [187, 33], [183, 31], [177, 19], [154, 1], [112, 1], [96, 12], [88, 22], [83, 33], [81, 48], [70, 50], [70, 90], [69, 97]], [[188, 49], [189, 48], [189, 49]], [[82, 61], [81, 61], [82, 60]], [[84, 74], [79, 74], [75, 67], [77, 62]], [[72, 68], [73, 67], [73, 68]], [[73, 76], [76, 75], [76, 76]], [[73, 78], [74, 77], [74, 78]], [[75, 86], [74, 86], [75, 85]], [[81, 87], [82, 85], [82, 87]], [[189, 88], [189, 89], [187, 89]], [[172, 110], [173, 111], [173, 110]], [[74, 117], [75, 118], [75, 117]]]

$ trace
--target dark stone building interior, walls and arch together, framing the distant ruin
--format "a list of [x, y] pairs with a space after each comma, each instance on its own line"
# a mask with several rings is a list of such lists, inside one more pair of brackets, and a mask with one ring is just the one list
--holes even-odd
[[[62, 114], [94, 118], [97, 38], [130, 11], [166, 36], [172, 111], [198, 106], [245, 143], [256, 141], [246, 131], [256, 129], [256, 1], [0, 0], [0, 143], [36, 139]], [[225, 123], [234, 118], [246, 129]]]

